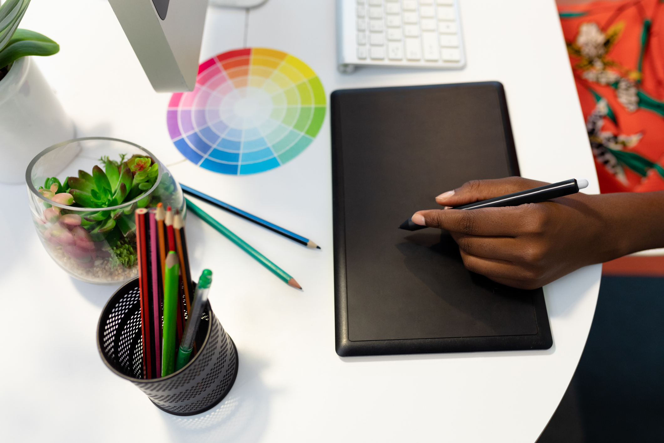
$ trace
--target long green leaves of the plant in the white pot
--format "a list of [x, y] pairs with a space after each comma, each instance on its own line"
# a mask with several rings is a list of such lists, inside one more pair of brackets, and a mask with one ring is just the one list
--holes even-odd
[[52, 55], [57, 43], [39, 33], [18, 29], [30, 0], [7, 0], [0, 5], [0, 71], [27, 55]]

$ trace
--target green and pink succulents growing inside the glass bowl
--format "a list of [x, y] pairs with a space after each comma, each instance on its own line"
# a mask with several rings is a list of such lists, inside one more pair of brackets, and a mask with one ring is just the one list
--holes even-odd
[[[97, 256], [109, 257], [112, 267], [122, 264], [129, 268], [137, 260], [133, 213], [137, 207], [149, 205], [151, 195], [146, 193], [157, 181], [159, 166], [141, 155], [127, 161], [125, 155], [120, 155], [120, 161], [102, 157], [100, 163], [104, 169], [95, 165], [92, 174], [78, 171], [78, 177], [67, 177], [64, 185], [56, 177], [46, 179], [39, 189], [44, 198], [93, 210], [80, 213], [44, 203], [41, 222], [50, 223], [50, 227], [43, 235], [51, 244], [62, 245], [62, 250], [84, 268], [94, 266]], [[171, 181], [167, 177], [163, 186], [173, 186]], [[131, 206], [106, 209], [134, 199], [138, 200]]]

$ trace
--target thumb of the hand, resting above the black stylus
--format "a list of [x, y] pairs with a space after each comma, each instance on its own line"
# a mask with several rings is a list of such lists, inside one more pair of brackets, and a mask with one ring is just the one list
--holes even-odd
[[436, 203], [441, 206], [456, 207], [544, 185], [548, 185], [548, 183], [544, 181], [524, 179], [523, 177], [471, 180], [463, 183], [461, 187], [454, 189], [454, 191], [442, 193], [436, 197]]

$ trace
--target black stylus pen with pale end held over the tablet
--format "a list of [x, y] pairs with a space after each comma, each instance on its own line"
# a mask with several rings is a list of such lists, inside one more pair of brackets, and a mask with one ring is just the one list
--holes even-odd
[[[563, 197], [564, 195], [576, 194], [580, 189], [588, 187], [588, 180], [586, 179], [570, 179], [552, 183], [539, 188], [528, 189], [527, 191], [519, 191], [518, 193], [501, 195], [500, 197], [493, 197], [468, 205], [458, 206], [452, 209], [480, 209], [480, 208], [499, 208], [503, 206], [519, 206], [526, 205], [527, 203], [540, 203], [556, 197]], [[405, 230], [418, 230], [424, 229], [428, 226], [415, 224], [411, 219], [404, 221], [399, 229]]]

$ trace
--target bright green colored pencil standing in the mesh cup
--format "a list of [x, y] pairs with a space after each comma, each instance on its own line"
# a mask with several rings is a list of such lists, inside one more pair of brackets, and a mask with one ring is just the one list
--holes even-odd
[[166, 284], [164, 286], [163, 346], [161, 347], [161, 377], [173, 373], [175, 368], [177, 293], [179, 264], [177, 254], [170, 251], [166, 256]]

